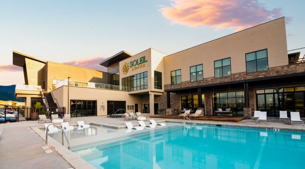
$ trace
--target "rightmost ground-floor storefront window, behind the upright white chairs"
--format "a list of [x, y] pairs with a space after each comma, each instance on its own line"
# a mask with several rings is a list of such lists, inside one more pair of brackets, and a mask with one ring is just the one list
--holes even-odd
[[299, 111], [305, 117], [305, 86], [256, 90], [256, 109], [267, 116], [280, 116], [280, 110]]

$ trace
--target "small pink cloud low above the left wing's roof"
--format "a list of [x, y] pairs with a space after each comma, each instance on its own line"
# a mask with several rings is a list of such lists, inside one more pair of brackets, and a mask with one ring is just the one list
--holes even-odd
[[75, 61], [68, 61], [68, 62], [64, 62], [63, 64], [107, 72], [106, 67], [99, 65], [99, 63], [102, 62], [103, 60], [105, 60], [105, 58], [95, 57], [95, 58], [86, 58]]

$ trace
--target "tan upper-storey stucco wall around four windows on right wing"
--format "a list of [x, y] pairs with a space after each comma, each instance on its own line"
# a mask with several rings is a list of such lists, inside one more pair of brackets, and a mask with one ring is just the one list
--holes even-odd
[[214, 61], [231, 57], [231, 74], [246, 72], [245, 54], [268, 49], [269, 68], [288, 65], [285, 18], [270, 21], [164, 58], [165, 84], [170, 72], [181, 69], [181, 81], [190, 81], [190, 66], [203, 64], [203, 78], [214, 77]]

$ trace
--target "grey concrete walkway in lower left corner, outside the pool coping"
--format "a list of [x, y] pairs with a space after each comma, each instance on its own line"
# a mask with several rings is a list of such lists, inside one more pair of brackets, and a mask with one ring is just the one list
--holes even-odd
[[[25, 123], [25, 122], [22, 122]], [[17, 123], [12, 123], [17, 124]], [[1, 124], [5, 125], [5, 124]], [[54, 150], [42, 147], [43, 140], [28, 127], [1, 128], [1, 169], [69, 169]], [[46, 150], [50, 153], [47, 153]]]

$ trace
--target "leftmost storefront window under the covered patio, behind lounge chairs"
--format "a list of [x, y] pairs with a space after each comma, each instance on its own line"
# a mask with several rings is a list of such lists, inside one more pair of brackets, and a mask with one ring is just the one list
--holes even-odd
[[[202, 108], [204, 108], [204, 94], [201, 94]], [[198, 94], [182, 95], [181, 96], [181, 109], [191, 109], [196, 111], [199, 106]]]

